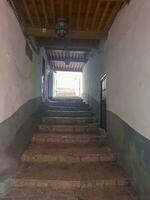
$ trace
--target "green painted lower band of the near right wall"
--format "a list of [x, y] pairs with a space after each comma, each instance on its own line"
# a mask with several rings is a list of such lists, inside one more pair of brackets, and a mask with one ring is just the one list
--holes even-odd
[[118, 163], [128, 173], [141, 200], [150, 199], [150, 140], [116, 114], [107, 112], [109, 143], [118, 155]]

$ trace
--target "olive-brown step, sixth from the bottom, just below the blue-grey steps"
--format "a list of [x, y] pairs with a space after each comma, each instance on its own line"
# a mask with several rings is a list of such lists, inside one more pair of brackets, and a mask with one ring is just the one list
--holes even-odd
[[44, 124], [56, 125], [72, 125], [72, 124], [88, 124], [96, 122], [95, 117], [42, 117]]

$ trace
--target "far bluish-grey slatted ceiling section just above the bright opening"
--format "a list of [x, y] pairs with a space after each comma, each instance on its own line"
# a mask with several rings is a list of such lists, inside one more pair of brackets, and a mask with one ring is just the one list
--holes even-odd
[[50, 50], [47, 49], [47, 58], [55, 71], [82, 72], [88, 61], [88, 53], [85, 51]]

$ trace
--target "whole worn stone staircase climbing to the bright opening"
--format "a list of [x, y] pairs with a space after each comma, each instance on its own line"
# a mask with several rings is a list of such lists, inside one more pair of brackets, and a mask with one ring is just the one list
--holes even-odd
[[21, 157], [5, 200], [135, 200], [89, 105], [55, 99]]

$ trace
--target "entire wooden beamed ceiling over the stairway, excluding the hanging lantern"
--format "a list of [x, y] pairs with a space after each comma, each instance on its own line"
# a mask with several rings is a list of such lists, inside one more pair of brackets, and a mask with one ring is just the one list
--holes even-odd
[[[8, 0], [27, 35], [46, 49], [52, 69], [82, 71], [89, 51], [99, 46], [128, 0]], [[57, 37], [56, 22], [65, 18], [69, 33]]]

